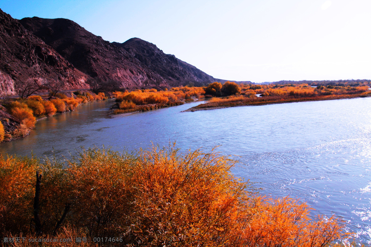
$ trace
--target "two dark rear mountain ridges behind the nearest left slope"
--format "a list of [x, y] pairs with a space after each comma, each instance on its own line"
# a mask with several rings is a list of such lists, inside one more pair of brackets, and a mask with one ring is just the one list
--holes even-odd
[[77, 69], [91, 77], [118, 81], [122, 87], [177, 86], [215, 80], [138, 38], [122, 44], [110, 43], [68, 19], [32, 17], [19, 22]]

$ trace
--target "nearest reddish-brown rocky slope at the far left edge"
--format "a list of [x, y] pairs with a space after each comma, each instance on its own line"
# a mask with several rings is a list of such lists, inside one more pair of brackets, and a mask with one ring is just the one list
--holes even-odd
[[0, 94], [17, 94], [19, 86], [37, 81], [63, 83], [66, 89], [86, 87], [88, 76], [52, 47], [0, 9]]

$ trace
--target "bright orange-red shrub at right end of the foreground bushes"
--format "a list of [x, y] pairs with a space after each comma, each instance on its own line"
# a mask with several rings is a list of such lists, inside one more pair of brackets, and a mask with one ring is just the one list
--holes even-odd
[[341, 232], [343, 221], [309, 217], [309, 207], [289, 197], [258, 197], [236, 231], [240, 246], [327, 246], [349, 234]]

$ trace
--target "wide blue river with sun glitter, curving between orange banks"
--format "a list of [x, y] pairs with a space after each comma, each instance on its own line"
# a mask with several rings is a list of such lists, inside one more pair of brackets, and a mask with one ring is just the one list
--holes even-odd
[[111, 118], [112, 100], [37, 122], [3, 154], [68, 158], [85, 148], [116, 151], [151, 143], [216, 148], [240, 163], [233, 173], [262, 193], [298, 197], [319, 213], [344, 218], [371, 243], [371, 98], [232, 107], [180, 113], [200, 102]]

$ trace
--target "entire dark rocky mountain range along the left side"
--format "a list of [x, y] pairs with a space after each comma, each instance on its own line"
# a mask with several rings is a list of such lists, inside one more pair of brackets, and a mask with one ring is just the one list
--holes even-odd
[[68, 19], [15, 20], [0, 10], [0, 92], [17, 94], [17, 83], [60, 81], [87, 88], [101, 79], [121, 87], [199, 85], [224, 81], [132, 38], [110, 43]]

